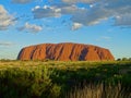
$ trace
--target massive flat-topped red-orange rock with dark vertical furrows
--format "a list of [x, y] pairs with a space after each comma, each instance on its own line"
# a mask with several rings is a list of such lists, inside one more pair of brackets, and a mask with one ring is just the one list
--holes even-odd
[[83, 44], [41, 44], [23, 48], [17, 60], [111, 61], [108, 49]]

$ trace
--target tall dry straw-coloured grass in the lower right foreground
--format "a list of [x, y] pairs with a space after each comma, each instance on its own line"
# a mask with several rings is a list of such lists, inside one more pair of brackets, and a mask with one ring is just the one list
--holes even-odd
[[66, 98], [131, 98], [131, 93], [126, 95], [120, 83], [116, 86], [90, 84], [84, 88], [75, 87], [67, 94]]

